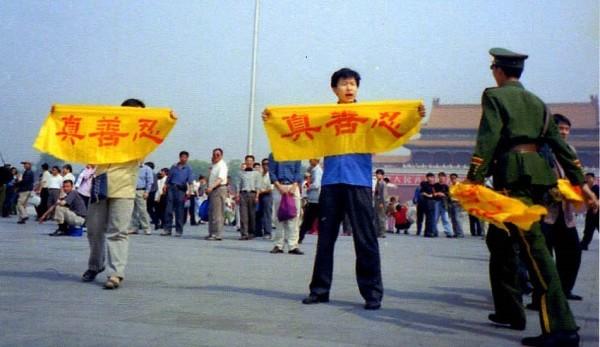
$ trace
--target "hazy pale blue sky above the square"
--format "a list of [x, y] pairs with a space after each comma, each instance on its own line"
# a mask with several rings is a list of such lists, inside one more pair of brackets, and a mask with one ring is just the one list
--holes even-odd
[[[522, 81], [548, 102], [598, 94], [597, 0], [503, 2], [262, 0], [257, 117], [267, 104], [335, 101], [331, 73], [358, 70], [360, 100], [479, 103], [491, 47], [529, 54]], [[53, 103], [171, 107], [179, 121], [151, 155], [246, 153], [253, 0], [0, 0], [0, 151], [31, 145]], [[266, 155], [260, 121], [254, 152]]]

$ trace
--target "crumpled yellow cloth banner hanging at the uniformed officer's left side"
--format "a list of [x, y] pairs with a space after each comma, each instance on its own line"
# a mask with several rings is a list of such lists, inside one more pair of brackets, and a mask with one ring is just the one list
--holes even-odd
[[521, 230], [529, 230], [548, 213], [540, 205], [528, 206], [521, 200], [502, 195], [478, 184], [458, 183], [450, 194], [470, 215], [508, 231], [504, 223], [512, 223]]

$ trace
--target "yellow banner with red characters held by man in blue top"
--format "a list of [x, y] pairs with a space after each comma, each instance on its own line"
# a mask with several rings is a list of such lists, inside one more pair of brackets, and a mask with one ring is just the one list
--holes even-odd
[[276, 160], [381, 153], [419, 132], [422, 100], [268, 106], [264, 122]]

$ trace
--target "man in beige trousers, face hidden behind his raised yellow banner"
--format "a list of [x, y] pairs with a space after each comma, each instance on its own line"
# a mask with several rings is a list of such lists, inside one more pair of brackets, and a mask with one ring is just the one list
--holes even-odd
[[168, 135], [176, 118], [169, 109], [145, 108], [137, 99], [121, 107], [55, 105], [34, 147], [60, 159], [95, 164], [88, 216], [90, 256], [84, 282], [109, 269], [106, 289], [123, 281], [136, 191], [138, 162]]

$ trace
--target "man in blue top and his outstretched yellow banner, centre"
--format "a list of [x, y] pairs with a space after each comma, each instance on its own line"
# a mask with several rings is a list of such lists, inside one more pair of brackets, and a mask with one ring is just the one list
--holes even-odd
[[319, 196], [319, 239], [310, 294], [304, 304], [329, 301], [333, 251], [348, 215], [356, 277], [364, 308], [381, 307], [383, 284], [372, 194], [372, 153], [401, 146], [419, 132], [420, 101], [356, 103], [360, 75], [343, 68], [331, 76], [338, 104], [268, 107], [265, 129], [276, 160], [325, 156]]

